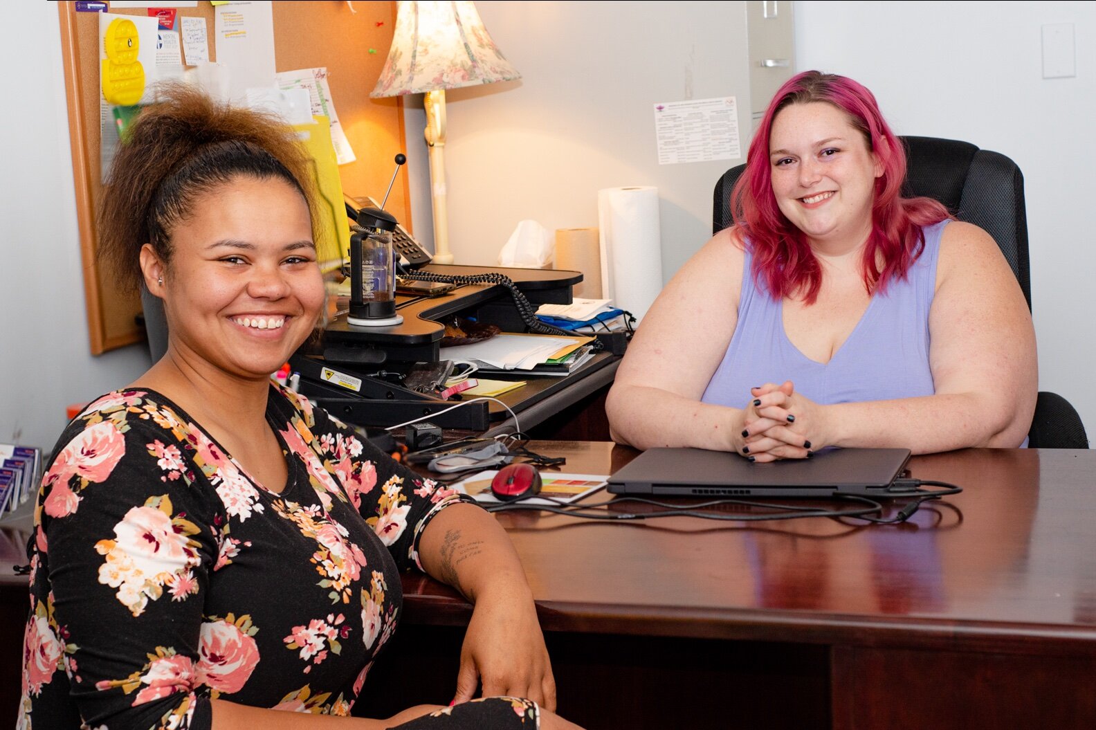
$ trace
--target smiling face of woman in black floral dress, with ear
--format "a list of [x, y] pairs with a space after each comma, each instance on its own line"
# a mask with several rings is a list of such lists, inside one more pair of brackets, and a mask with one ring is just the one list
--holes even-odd
[[308, 205], [281, 179], [237, 176], [201, 194], [171, 231], [168, 265], [150, 246], [141, 265], [164, 300], [169, 352], [197, 370], [269, 377], [323, 305]]

